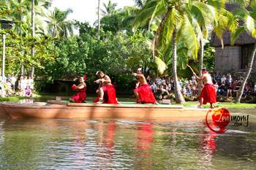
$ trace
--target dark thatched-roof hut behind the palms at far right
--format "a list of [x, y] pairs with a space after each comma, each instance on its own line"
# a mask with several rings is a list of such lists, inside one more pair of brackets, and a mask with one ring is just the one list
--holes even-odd
[[[227, 4], [227, 9], [233, 12], [236, 9], [236, 5]], [[215, 47], [216, 58], [215, 58], [215, 71], [222, 73], [233, 73], [233, 74], [244, 74], [247, 68], [249, 56], [252, 55], [253, 44], [255, 44], [256, 39], [252, 38], [245, 31], [238, 39], [234, 45], [230, 43], [230, 32], [226, 31], [223, 34], [223, 44], [224, 49], [222, 49], [222, 44], [218, 37], [213, 33], [211, 34], [211, 46]], [[256, 80], [256, 58], [252, 69], [251, 79]]]

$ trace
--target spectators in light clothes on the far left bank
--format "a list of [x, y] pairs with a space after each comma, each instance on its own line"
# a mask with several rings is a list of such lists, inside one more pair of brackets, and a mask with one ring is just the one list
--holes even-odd
[[32, 90], [34, 89], [33, 78], [21, 76], [18, 80], [18, 77], [12, 74], [11, 76], [4, 77], [4, 79], [0, 76], [0, 85], [2, 85], [2, 81], [4, 81], [6, 96], [12, 96], [18, 91], [20, 96], [31, 97]]

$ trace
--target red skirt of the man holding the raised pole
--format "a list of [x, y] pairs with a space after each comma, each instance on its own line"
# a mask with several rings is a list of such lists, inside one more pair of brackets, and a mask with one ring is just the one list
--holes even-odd
[[206, 84], [203, 86], [201, 94], [199, 96], [199, 101], [203, 98], [203, 104], [214, 104], [216, 103], [216, 88], [212, 84]]

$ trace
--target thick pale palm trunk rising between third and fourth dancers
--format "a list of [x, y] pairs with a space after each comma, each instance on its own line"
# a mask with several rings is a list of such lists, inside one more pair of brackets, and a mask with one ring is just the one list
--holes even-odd
[[176, 42], [176, 29], [173, 31], [173, 80], [174, 80], [174, 86], [175, 86], [175, 98], [176, 103], [181, 104], [185, 103], [185, 99], [181, 93], [181, 87], [178, 85], [178, 75], [177, 75], [177, 42]]

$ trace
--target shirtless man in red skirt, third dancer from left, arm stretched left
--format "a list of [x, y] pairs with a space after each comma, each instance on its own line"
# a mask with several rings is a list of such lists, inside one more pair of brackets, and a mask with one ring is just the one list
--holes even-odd
[[140, 104], [158, 104], [154, 98], [150, 85], [148, 85], [146, 78], [141, 73], [141, 69], [138, 69], [137, 73], [133, 73], [132, 75], [138, 78], [138, 82], [136, 83], [136, 88], [134, 90], [136, 102]]

